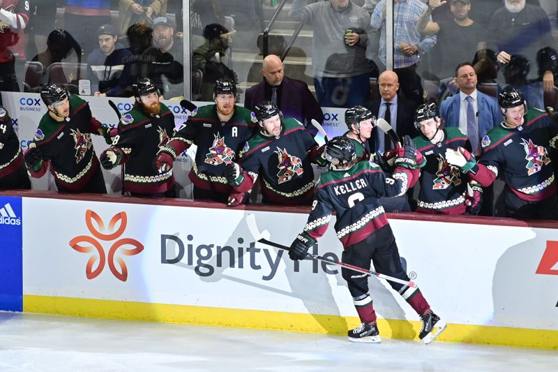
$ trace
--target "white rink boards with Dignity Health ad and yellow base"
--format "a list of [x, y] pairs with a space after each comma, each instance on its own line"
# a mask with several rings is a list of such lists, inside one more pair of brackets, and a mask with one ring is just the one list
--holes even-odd
[[[3, 310], [328, 334], [359, 323], [338, 267], [292, 262], [248, 232], [254, 213], [270, 240], [289, 245], [306, 209], [3, 195], [20, 195], [0, 196]], [[558, 350], [558, 224], [390, 221], [407, 273], [448, 322], [442, 341]], [[333, 223], [315, 251], [336, 260]], [[382, 336], [416, 337], [408, 304], [369, 283]]]

